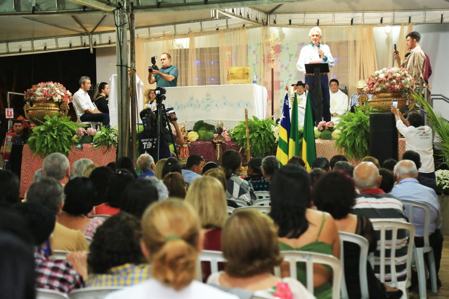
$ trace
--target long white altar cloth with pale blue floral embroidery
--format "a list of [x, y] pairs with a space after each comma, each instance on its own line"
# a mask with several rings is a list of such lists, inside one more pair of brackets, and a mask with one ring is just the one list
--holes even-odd
[[239, 121], [245, 120], [245, 108], [248, 118], [265, 118], [267, 109], [267, 89], [256, 84], [209, 85], [188, 87], [167, 87], [166, 108], [173, 107], [178, 123], [187, 121], [187, 130], [194, 123], [203, 120], [216, 125], [223, 121], [225, 127], [233, 129]]

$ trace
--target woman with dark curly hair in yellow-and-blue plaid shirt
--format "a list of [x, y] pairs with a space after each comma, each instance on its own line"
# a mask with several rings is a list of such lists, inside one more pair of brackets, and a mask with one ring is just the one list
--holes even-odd
[[120, 212], [101, 225], [92, 243], [87, 263], [86, 286], [131, 286], [150, 277], [140, 247], [142, 227], [136, 217]]

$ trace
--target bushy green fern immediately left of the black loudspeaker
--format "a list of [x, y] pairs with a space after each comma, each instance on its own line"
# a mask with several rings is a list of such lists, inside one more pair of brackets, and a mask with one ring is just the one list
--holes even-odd
[[339, 115], [338, 128], [341, 130], [335, 140], [335, 147], [344, 150], [348, 158], [361, 159], [368, 155], [370, 140], [370, 113], [375, 113], [370, 105], [356, 107], [355, 113]]

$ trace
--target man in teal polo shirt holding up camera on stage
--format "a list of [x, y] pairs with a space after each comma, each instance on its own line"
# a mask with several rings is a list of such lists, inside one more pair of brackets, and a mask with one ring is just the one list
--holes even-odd
[[156, 82], [158, 87], [176, 87], [178, 82], [178, 68], [172, 65], [172, 56], [168, 53], [162, 53], [161, 65], [161, 69], [154, 67], [154, 64], [148, 67], [148, 82], [150, 84]]

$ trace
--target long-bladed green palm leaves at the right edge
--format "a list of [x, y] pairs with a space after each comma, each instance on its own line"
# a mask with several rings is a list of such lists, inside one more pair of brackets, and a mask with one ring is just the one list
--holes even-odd
[[423, 95], [418, 93], [414, 93], [413, 95], [415, 99], [426, 108], [432, 130], [436, 133], [435, 138], [438, 143], [440, 143], [440, 152], [437, 155], [442, 157], [443, 163], [449, 167], [449, 122], [440, 112], [436, 113], [433, 110], [431, 105], [423, 98]]

